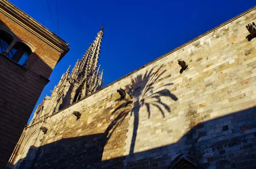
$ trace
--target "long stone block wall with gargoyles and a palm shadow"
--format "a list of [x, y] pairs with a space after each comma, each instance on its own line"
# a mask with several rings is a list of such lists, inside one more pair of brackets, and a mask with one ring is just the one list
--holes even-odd
[[70, 105], [46, 97], [8, 167], [255, 169], [254, 23], [256, 7]]

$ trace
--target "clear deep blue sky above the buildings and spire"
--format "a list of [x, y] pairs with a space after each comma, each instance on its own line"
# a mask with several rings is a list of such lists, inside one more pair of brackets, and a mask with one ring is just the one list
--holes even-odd
[[[55, 33], [56, 0], [9, 0]], [[57, 64], [38, 103], [105, 25], [99, 58], [104, 86], [256, 5], [254, 0], [58, 0], [60, 37], [70, 51]], [[246, 29], [244, 27], [244, 29]], [[35, 110], [35, 109], [34, 109]], [[31, 118], [30, 118], [31, 119]], [[29, 120], [30, 120], [29, 119]]]

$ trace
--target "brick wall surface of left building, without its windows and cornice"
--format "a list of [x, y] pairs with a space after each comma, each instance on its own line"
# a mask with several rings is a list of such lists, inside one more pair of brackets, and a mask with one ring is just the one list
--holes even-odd
[[32, 43], [36, 50], [28, 66], [0, 55], [0, 168], [4, 168], [40, 96], [60, 52], [0, 12], [0, 25]]

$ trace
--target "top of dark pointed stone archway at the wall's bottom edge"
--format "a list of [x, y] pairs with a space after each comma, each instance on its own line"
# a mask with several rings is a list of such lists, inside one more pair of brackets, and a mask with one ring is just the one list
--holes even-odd
[[205, 167], [192, 156], [180, 154], [167, 169], [205, 169]]

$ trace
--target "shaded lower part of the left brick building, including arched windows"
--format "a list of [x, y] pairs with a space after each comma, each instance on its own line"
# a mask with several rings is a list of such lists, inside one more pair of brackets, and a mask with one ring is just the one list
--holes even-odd
[[35, 48], [32, 43], [18, 37], [0, 20], [0, 145], [5, 152], [0, 155], [0, 168], [12, 155], [52, 72], [35, 53], [40, 46]]

